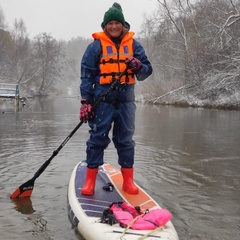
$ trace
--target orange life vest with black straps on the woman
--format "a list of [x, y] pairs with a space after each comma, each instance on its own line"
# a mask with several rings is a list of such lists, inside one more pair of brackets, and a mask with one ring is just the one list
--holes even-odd
[[[126, 68], [125, 61], [133, 56], [133, 32], [128, 32], [122, 39], [119, 49], [104, 32], [93, 33], [94, 39], [99, 39], [102, 46], [100, 60], [100, 84], [109, 84]], [[120, 82], [135, 84], [134, 73], [128, 70]]]

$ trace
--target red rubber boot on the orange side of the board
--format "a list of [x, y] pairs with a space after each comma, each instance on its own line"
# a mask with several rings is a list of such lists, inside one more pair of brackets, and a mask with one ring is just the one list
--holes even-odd
[[133, 168], [121, 168], [123, 176], [123, 186], [124, 192], [129, 194], [138, 194], [138, 188], [133, 182]]

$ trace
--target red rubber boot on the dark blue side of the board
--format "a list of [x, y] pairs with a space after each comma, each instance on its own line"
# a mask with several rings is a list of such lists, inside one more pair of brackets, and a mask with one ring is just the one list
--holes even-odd
[[87, 168], [86, 180], [81, 190], [82, 195], [93, 195], [97, 173], [98, 168]]

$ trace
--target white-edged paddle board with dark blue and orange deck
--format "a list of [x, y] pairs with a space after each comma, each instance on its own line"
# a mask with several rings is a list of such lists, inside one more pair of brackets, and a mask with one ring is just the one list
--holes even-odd
[[[75, 229], [86, 240], [179, 240], [171, 221], [155, 230], [133, 230], [123, 228], [118, 222], [113, 225], [101, 222], [104, 210], [114, 202], [125, 202], [139, 206], [142, 211], [161, 209], [141, 187], [137, 195], [122, 190], [122, 174], [110, 164], [99, 167], [94, 194], [82, 195], [81, 188], [86, 177], [86, 162], [74, 168], [68, 187], [68, 215]], [[110, 188], [110, 189], [109, 189]]]

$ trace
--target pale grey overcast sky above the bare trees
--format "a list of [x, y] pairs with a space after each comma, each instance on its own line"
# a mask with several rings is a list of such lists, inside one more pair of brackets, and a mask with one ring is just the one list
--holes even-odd
[[[60, 40], [72, 37], [91, 38], [101, 31], [104, 13], [114, 0], [0, 0], [5, 21], [10, 28], [15, 19], [22, 18], [30, 38], [46, 32]], [[156, 0], [118, 0], [125, 20], [136, 34], [143, 23], [143, 14], [157, 8]]]

